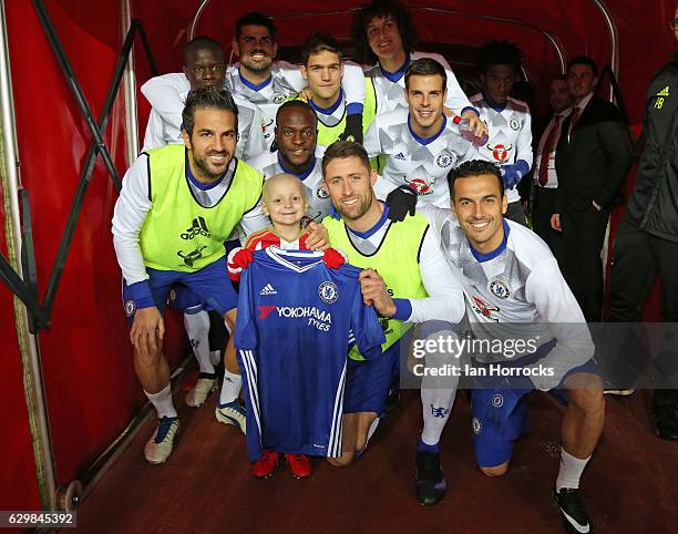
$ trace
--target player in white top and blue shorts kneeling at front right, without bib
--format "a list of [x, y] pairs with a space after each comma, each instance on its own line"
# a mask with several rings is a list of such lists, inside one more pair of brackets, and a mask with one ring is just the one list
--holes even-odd
[[527, 341], [522, 353], [510, 353], [507, 345], [496, 352], [473, 350], [477, 369], [494, 379], [472, 391], [480, 469], [487, 476], [508, 471], [513, 444], [526, 429], [524, 397], [532, 389], [551, 391], [566, 404], [555, 501], [568, 533], [593, 532], [579, 477], [603, 432], [605, 400], [582, 309], [546, 244], [504, 218], [507, 198], [496, 165], [463, 163], [450, 175], [450, 194], [452, 213], [424, 210], [462, 276], [473, 339]]

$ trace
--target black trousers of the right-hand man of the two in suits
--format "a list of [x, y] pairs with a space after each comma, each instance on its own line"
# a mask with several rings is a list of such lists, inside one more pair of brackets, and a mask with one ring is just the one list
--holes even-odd
[[565, 260], [563, 275], [587, 321], [597, 322], [603, 312], [603, 260], [600, 250], [609, 212], [590, 206], [561, 213]]

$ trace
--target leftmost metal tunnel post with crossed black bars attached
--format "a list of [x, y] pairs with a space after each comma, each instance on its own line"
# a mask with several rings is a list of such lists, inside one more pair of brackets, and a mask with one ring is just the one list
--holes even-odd
[[[56, 472], [53, 459], [52, 440], [50, 434], [49, 417], [47, 411], [47, 400], [43, 390], [42, 366], [37, 333], [40, 329], [49, 325], [49, 317], [55, 299], [56, 289], [61, 280], [65, 258], [69, 254], [70, 245], [75, 230], [75, 225], [80, 215], [84, 194], [86, 192], [91, 175], [94, 171], [94, 163], [97, 153], [102, 154], [109, 174], [120, 189], [120, 176], [103, 141], [103, 132], [109, 122], [109, 116], [113, 109], [117, 90], [122, 80], [125, 64], [127, 63], [134, 35], [140, 33], [144, 50], [148, 59], [152, 71], [156, 72], [155, 62], [145, 39], [141, 22], [132, 21], [130, 31], [119, 55], [113, 80], [109, 89], [106, 102], [102, 111], [99, 124], [95, 123], [92, 112], [84, 99], [80, 84], [70, 66], [70, 62], [59, 35], [49, 18], [41, 0], [33, 0], [33, 7], [38, 13], [43, 30], [58, 57], [66, 83], [71, 88], [74, 97], [85, 117], [88, 126], [92, 132], [92, 144], [90, 146], [85, 164], [82, 168], [75, 197], [71, 205], [71, 213], [66, 220], [62, 240], [56, 253], [56, 257], [50, 271], [50, 279], [45, 291], [44, 304], [40, 304], [38, 294], [38, 280], [35, 268], [35, 255], [33, 251], [31, 209], [28, 191], [20, 187], [19, 181], [19, 151], [17, 148], [17, 133], [13, 114], [13, 97], [11, 91], [10, 54], [7, 40], [4, 0], [0, 0], [0, 21], [2, 35], [0, 39], [0, 101], [2, 102], [2, 152], [7, 154], [9, 164], [7, 165], [7, 179], [3, 173], [3, 193], [8, 227], [11, 228], [11, 236], [8, 234], [8, 254], [12, 264], [0, 254], [0, 280], [2, 280], [16, 298], [23, 302], [21, 307], [14, 302], [17, 321], [17, 337], [22, 358], [23, 382], [25, 391], [25, 402], [29, 412], [29, 428], [33, 443], [33, 456], [35, 472], [40, 492], [40, 500], [44, 510], [72, 510], [79, 501], [80, 482], [73, 481], [65, 491], [55, 489]], [[22, 207], [19, 207], [21, 198]], [[9, 208], [8, 208], [9, 207]], [[11, 224], [9, 219], [11, 218]], [[21, 232], [20, 232], [21, 228]], [[9, 230], [8, 230], [9, 232]], [[17, 254], [16, 250], [20, 250]], [[28, 329], [28, 332], [27, 332]], [[55, 491], [56, 490], [56, 491]]]

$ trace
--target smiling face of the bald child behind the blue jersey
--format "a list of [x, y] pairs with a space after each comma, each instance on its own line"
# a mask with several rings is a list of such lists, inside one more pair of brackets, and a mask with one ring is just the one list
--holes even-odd
[[274, 226], [298, 226], [308, 209], [301, 181], [289, 174], [278, 174], [264, 184], [261, 207]]

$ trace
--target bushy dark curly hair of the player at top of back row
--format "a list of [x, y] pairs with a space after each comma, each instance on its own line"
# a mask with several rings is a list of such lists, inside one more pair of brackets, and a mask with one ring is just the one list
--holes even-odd
[[356, 58], [360, 63], [374, 64], [377, 55], [370, 48], [367, 28], [372, 19], [391, 17], [398, 24], [402, 48], [412, 52], [417, 44], [417, 28], [408, 10], [398, 0], [373, 0], [362, 6], [353, 17], [351, 37], [356, 43]]

